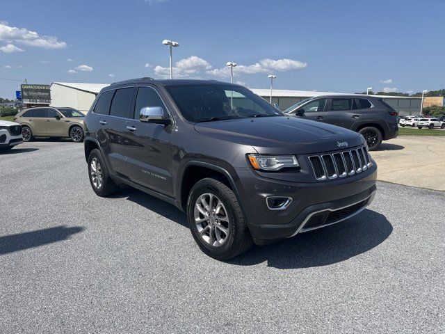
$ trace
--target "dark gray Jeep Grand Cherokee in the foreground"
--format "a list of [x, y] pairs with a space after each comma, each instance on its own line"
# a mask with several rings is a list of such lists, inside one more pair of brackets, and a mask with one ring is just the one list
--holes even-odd
[[128, 184], [172, 203], [218, 260], [343, 221], [376, 190], [362, 135], [285, 116], [234, 84], [121, 81], [85, 123], [95, 193]]

